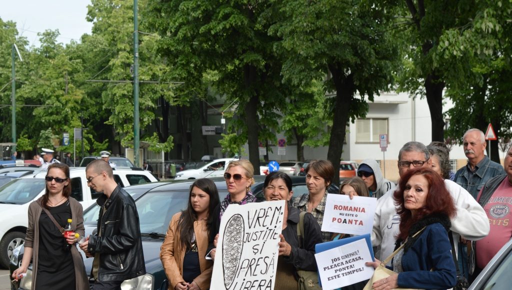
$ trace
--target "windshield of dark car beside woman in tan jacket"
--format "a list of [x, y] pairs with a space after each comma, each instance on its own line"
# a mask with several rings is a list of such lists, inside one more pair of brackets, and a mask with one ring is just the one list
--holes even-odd
[[188, 191], [149, 192], [141, 196], [135, 202], [139, 213], [140, 232], [165, 235], [170, 219], [186, 208], [187, 201]]

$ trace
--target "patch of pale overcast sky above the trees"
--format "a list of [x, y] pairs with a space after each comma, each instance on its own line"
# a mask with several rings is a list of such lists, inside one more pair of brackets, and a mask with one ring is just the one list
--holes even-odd
[[0, 18], [13, 20], [30, 45], [38, 47], [37, 32], [47, 29], [58, 29], [58, 41], [67, 44], [91, 33], [92, 23], [86, 20], [89, 4], [90, 0], [0, 0]]

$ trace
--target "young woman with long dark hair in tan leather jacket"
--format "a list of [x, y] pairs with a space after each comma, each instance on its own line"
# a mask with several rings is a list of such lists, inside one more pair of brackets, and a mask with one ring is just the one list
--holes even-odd
[[205, 255], [208, 234], [215, 231], [212, 213], [218, 204], [215, 183], [201, 178], [190, 187], [187, 209], [171, 219], [160, 252], [169, 289], [209, 288], [214, 264]]

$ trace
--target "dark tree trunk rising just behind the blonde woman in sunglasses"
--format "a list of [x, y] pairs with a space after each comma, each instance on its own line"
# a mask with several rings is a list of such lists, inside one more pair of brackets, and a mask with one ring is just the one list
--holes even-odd
[[253, 88], [256, 85], [257, 72], [254, 66], [245, 65], [244, 80], [246, 91], [249, 94], [249, 101], [245, 106], [245, 122], [247, 124], [247, 144], [249, 147], [249, 161], [254, 167], [254, 173], [260, 172], [260, 152], [258, 149], [258, 93]]

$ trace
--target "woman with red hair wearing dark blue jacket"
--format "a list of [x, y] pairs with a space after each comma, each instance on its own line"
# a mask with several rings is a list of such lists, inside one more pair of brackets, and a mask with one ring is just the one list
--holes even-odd
[[[398, 274], [375, 281], [373, 289], [453, 287], [457, 272], [448, 232], [456, 210], [442, 178], [428, 168], [410, 170], [400, 179], [394, 199], [400, 215], [396, 247], [403, 244], [392, 263]], [[380, 261], [366, 264], [377, 267]]]

